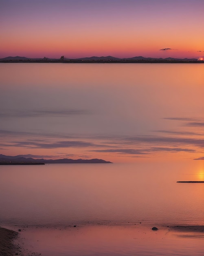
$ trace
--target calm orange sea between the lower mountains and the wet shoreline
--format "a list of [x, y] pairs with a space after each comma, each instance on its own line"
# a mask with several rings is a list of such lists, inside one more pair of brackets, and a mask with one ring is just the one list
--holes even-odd
[[[2, 224], [204, 225], [200, 162], [0, 166]], [[199, 177], [200, 175], [200, 177]]]

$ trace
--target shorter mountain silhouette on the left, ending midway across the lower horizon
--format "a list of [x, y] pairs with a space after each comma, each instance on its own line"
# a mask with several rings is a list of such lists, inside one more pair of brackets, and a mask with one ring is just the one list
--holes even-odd
[[44, 164], [111, 164], [103, 159], [33, 159], [24, 155], [8, 156], [0, 154], [0, 164], [2, 163], [44, 163]]

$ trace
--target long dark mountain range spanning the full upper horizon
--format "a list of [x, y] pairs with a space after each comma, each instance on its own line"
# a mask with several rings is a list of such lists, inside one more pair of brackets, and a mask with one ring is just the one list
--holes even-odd
[[[136, 56], [132, 58], [116, 58], [113, 56], [92, 56], [85, 58], [26, 58], [20, 56], [9, 56], [6, 58], [1, 58], [0, 62], [191, 62], [198, 61], [197, 58], [145, 58], [143, 56]], [[204, 62], [204, 61], [199, 61]]]

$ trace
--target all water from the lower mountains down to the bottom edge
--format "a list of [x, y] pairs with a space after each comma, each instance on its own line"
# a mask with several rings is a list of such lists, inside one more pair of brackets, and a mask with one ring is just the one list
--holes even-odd
[[202, 255], [202, 232], [171, 226], [204, 225], [203, 184], [177, 183], [203, 170], [193, 160], [1, 166], [0, 225], [42, 256]]

